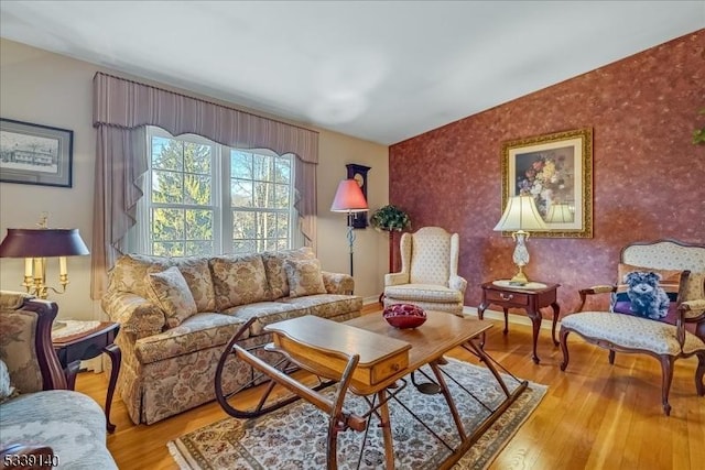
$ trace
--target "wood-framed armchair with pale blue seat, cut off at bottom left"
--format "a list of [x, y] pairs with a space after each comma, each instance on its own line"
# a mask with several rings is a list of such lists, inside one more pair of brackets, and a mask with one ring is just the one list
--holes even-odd
[[0, 468], [117, 469], [100, 405], [67, 390], [52, 346], [56, 313], [53, 302], [0, 292]]

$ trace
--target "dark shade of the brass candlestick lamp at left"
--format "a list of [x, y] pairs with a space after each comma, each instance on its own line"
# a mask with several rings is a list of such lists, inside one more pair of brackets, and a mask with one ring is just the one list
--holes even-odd
[[51, 258], [89, 254], [78, 229], [8, 229], [0, 258]]

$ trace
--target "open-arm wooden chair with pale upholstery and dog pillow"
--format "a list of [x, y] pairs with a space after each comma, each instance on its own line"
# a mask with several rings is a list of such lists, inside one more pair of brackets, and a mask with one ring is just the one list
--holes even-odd
[[[697, 357], [695, 387], [705, 395], [705, 245], [672, 240], [634, 243], [621, 251], [619, 283], [582, 289], [578, 313], [561, 321], [561, 370], [568, 364], [567, 336], [615, 351], [643, 353], [662, 369], [662, 406], [670, 415], [674, 362]], [[655, 283], [655, 284], [654, 284]], [[609, 311], [583, 311], [588, 296], [611, 294]]]

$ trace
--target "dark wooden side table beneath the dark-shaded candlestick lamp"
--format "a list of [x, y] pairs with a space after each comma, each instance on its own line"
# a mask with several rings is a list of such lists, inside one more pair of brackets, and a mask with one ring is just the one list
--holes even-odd
[[112, 371], [110, 372], [110, 382], [108, 382], [105, 409], [106, 427], [108, 431], [115, 431], [115, 425], [110, 423], [110, 406], [112, 405], [112, 395], [115, 394], [122, 360], [120, 348], [115, 345], [115, 337], [118, 335], [120, 325], [112, 321], [59, 320], [58, 323], [64, 323], [66, 326], [52, 331], [52, 342], [56, 356], [58, 356], [58, 360], [64, 368], [69, 390], [76, 387], [76, 374], [78, 373], [80, 361], [96, 358], [102, 352], [110, 357]]

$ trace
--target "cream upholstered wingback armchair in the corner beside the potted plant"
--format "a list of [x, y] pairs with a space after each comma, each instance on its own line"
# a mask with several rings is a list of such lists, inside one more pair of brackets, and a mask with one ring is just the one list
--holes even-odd
[[384, 307], [413, 304], [462, 316], [467, 281], [457, 273], [458, 234], [424, 227], [402, 234], [400, 250], [401, 272], [384, 275]]

